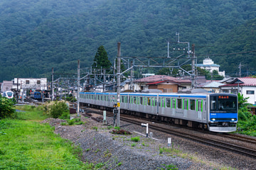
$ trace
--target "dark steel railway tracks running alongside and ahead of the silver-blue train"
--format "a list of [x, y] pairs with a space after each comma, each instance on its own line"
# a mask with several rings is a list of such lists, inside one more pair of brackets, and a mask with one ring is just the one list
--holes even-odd
[[[97, 113], [102, 115], [101, 112], [99, 111], [95, 111], [95, 110], [91, 110], [91, 109], [87, 109], [84, 108], [86, 112], [90, 112], [90, 113]], [[112, 116], [112, 113], [107, 112], [107, 116]], [[122, 115], [120, 120], [123, 120], [127, 123], [133, 123], [135, 125], [142, 125], [142, 120], [134, 120], [134, 118], [129, 117], [127, 115]], [[153, 130], [157, 130], [159, 132], [164, 132], [167, 134], [171, 134], [171, 135], [176, 135], [178, 137], [183, 137], [187, 140], [192, 140], [195, 142], [200, 142], [204, 145], [209, 145], [212, 147], [217, 147], [219, 149], [225, 149], [227, 151], [230, 152], [235, 152], [237, 154], [242, 154], [245, 155], [247, 157], [251, 157], [256, 159], [256, 150], [255, 149], [250, 149], [247, 147], [243, 147], [243, 146], [239, 146], [239, 145], [234, 145], [232, 143], [229, 142], [224, 142], [224, 141], [220, 141], [220, 140], [214, 140], [214, 139], [210, 139], [209, 137], [202, 137], [202, 135], [195, 135], [195, 134], [191, 134], [188, 132], [181, 132], [180, 130], [175, 130], [173, 128], [163, 128], [159, 125], [156, 124], [151, 124], [150, 128]], [[216, 134], [215, 134], [216, 135]], [[238, 140], [238, 141], [242, 141], [242, 142], [250, 142], [252, 144], [255, 144], [256, 140], [250, 138], [250, 137], [242, 137], [242, 136], [238, 136], [238, 135], [218, 135], [220, 137], [229, 137], [232, 138], [234, 140]]]

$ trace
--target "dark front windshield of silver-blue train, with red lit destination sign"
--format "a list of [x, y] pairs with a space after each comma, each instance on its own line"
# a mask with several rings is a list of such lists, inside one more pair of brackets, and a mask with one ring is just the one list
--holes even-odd
[[237, 98], [234, 96], [211, 96], [210, 97], [210, 111], [222, 113], [236, 113], [237, 112]]

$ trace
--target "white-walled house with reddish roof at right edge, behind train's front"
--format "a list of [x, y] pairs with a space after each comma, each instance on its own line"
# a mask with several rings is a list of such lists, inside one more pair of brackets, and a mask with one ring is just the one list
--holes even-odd
[[225, 82], [225, 85], [220, 86], [221, 92], [232, 94], [243, 94], [245, 98], [248, 98], [248, 103], [256, 104], [256, 78], [242, 77], [232, 78]]

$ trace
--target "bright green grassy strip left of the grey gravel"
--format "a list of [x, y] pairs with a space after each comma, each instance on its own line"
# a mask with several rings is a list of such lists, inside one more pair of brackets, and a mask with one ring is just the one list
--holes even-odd
[[0, 169], [94, 169], [80, 161], [80, 147], [39, 123], [47, 118], [43, 111], [19, 109], [27, 111], [18, 112], [18, 119], [0, 120]]

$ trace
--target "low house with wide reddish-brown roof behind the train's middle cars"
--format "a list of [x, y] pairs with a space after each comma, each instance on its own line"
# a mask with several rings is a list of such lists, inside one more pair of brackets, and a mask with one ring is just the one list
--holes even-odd
[[181, 89], [189, 89], [191, 81], [188, 79], [177, 79], [166, 75], [154, 75], [137, 79], [134, 81], [134, 89], [137, 91], [149, 91], [159, 89], [164, 93], [178, 92]]

